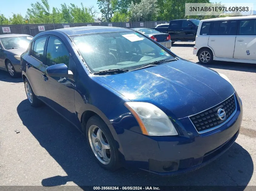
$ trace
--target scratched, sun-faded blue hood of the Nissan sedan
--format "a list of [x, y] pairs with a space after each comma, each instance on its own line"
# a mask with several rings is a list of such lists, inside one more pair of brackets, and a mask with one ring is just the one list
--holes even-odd
[[183, 59], [95, 78], [131, 101], [156, 105], [174, 119], [206, 110], [234, 93], [217, 72]]

